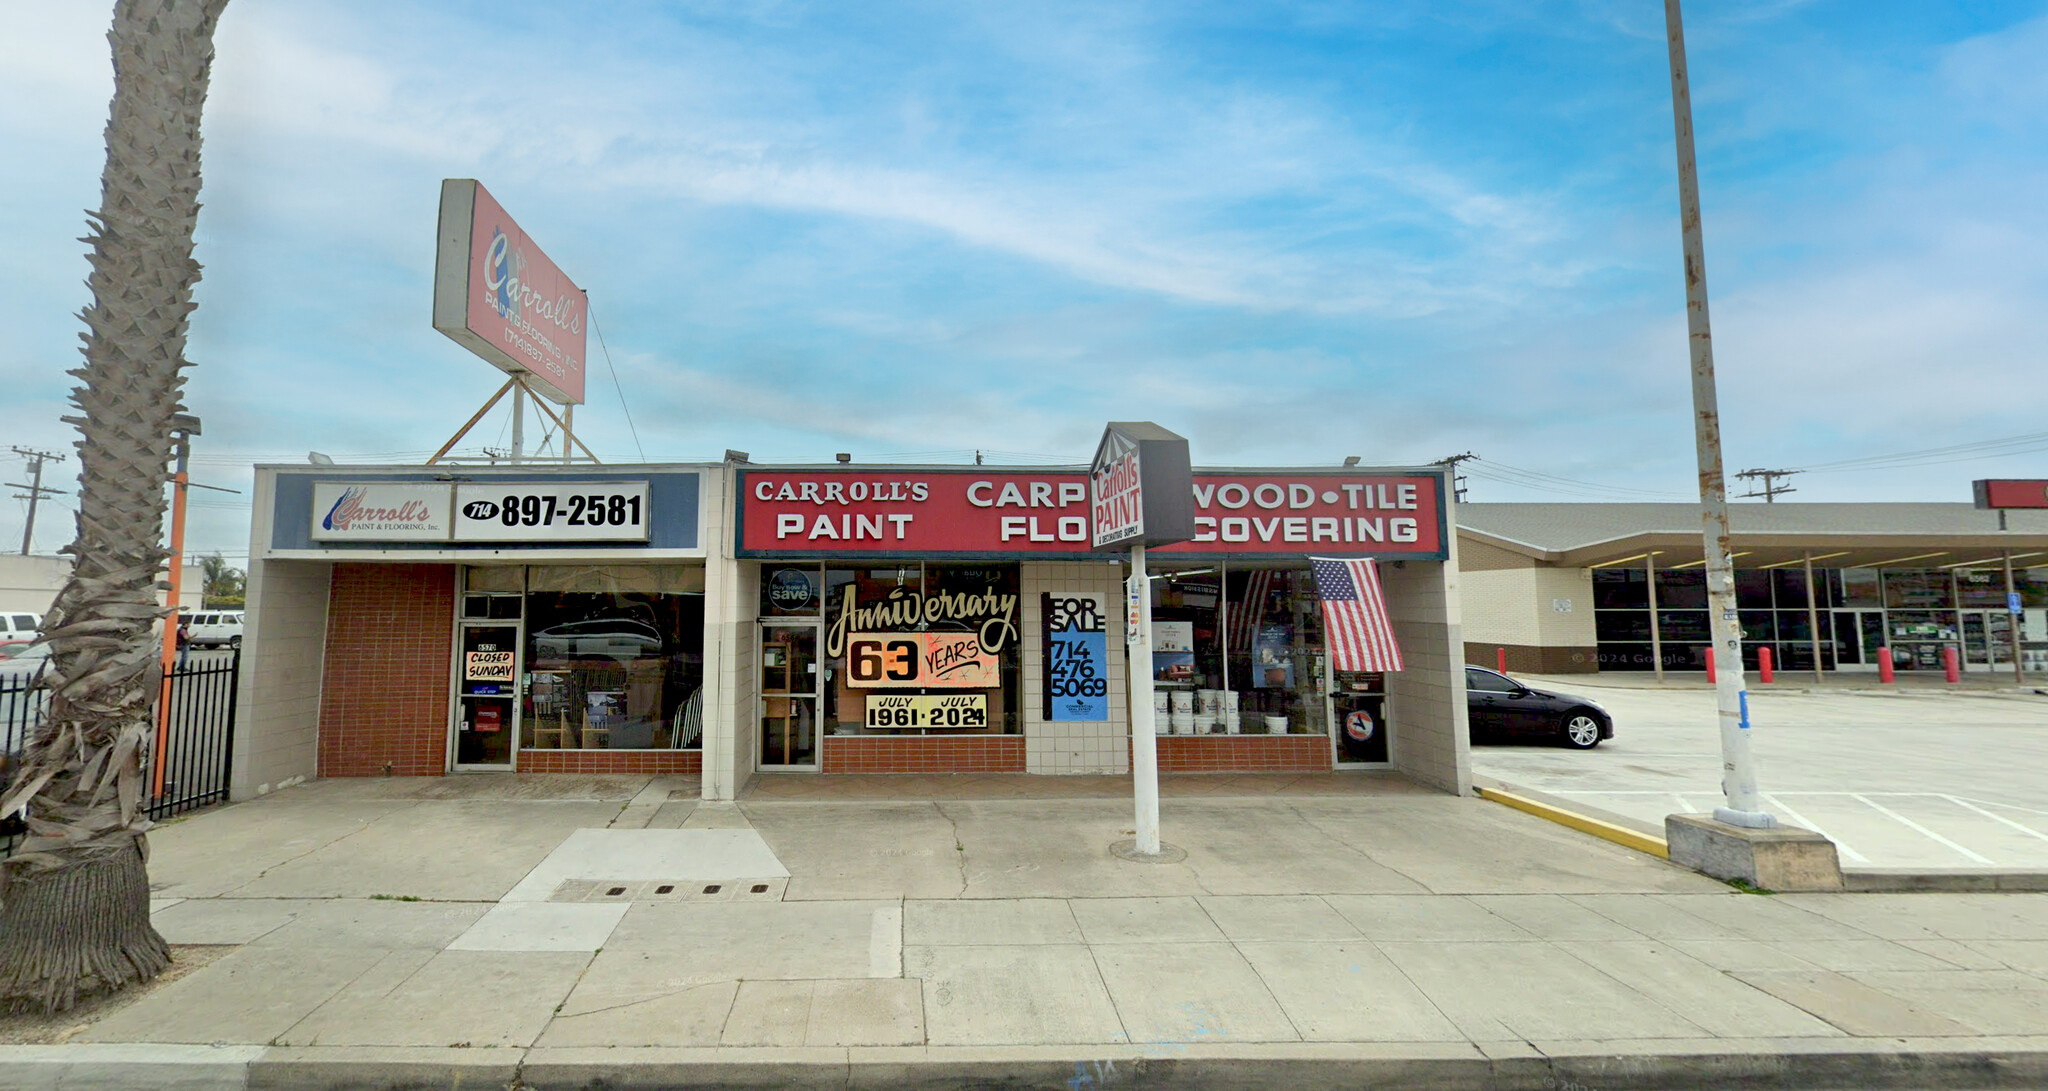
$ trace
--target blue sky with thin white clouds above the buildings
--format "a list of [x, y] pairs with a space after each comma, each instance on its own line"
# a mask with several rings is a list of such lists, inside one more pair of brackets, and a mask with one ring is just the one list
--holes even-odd
[[[104, 8], [0, 0], [0, 446], [72, 438]], [[199, 481], [418, 459], [498, 387], [428, 323], [473, 176], [590, 291], [606, 461], [1083, 459], [1149, 418], [1200, 463], [1473, 450], [1473, 499], [1694, 489], [1655, 0], [236, 0], [217, 45]], [[1731, 469], [2048, 430], [2048, 0], [1690, 0], [1688, 45]], [[2032, 446], [1792, 499], [1966, 499]]]

